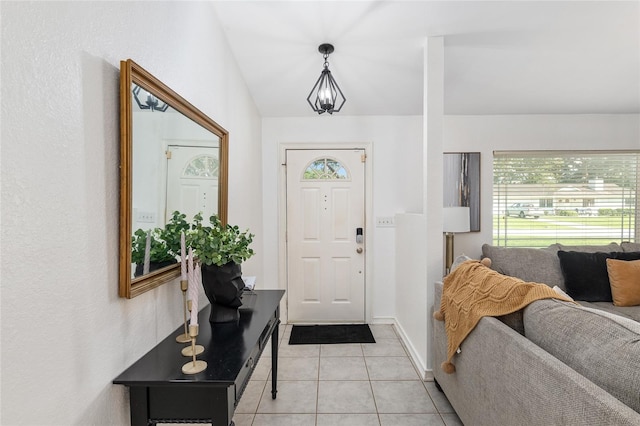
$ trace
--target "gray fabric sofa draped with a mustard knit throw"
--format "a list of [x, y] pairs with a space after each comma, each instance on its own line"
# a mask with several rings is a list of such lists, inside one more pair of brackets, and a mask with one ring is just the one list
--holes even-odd
[[[485, 246], [483, 255], [501, 273], [563, 288], [558, 250], [640, 251], [640, 245]], [[435, 307], [441, 295], [436, 283]], [[434, 377], [465, 425], [640, 425], [640, 307], [581, 305], [547, 299], [481, 319], [454, 356], [452, 374], [440, 368], [444, 323], [433, 321]]]

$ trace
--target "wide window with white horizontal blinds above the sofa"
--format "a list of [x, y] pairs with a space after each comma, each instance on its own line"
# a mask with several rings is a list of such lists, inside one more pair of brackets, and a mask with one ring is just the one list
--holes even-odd
[[638, 241], [640, 151], [493, 153], [493, 244]]

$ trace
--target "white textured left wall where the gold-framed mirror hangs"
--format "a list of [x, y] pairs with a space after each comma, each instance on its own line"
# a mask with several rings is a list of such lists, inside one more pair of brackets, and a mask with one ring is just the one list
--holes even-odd
[[[206, 2], [2, 2], [2, 424], [128, 424], [111, 381], [182, 321], [118, 288], [119, 61], [230, 132], [231, 221], [262, 234], [260, 117]], [[247, 264], [261, 273], [262, 259]], [[176, 348], [178, 350], [179, 348]]]

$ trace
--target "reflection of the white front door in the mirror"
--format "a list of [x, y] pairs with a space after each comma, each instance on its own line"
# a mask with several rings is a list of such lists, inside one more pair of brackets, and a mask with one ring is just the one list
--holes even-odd
[[217, 147], [169, 145], [165, 220], [178, 210], [187, 222], [202, 212], [203, 223], [209, 223], [218, 211], [218, 169]]

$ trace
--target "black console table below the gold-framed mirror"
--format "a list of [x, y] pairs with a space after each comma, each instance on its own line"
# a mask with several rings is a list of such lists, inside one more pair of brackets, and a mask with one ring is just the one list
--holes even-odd
[[[181, 355], [178, 328], [169, 337], [118, 376], [113, 383], [130, 388], [131, 424], [212, 423], [232, 425], [235, 407], [271, 336], [272, 398], [276, 397], [278, 324], [284, 290], [256, 290], [246, 294], [247, 308], [232, 323], [209, 322], [211, 306], [198, 315], [197, 344], [204, 346], [198, 359], [207, 369], [182, 373], [191, 358]], [[252, 300], [253, 299], [253, 300]]]

